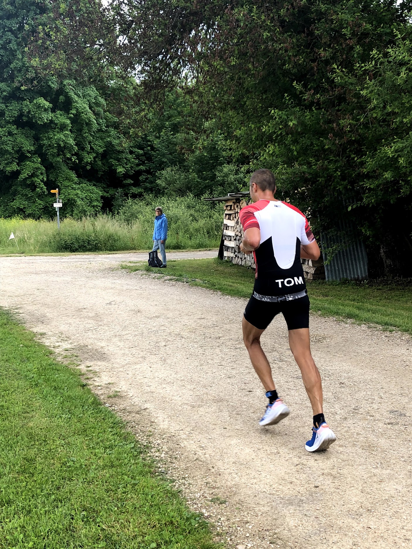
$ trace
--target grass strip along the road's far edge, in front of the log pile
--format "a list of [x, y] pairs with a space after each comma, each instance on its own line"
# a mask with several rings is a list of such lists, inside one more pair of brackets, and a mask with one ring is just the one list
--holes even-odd
[[[122, 265], [134, 271], [151, 271], [172, 276], [182, 282], [219, 290], [227, 295], [248, 298], [252, 293], [254, 272], [218, 259], [183, 259], [168, 261], [159, 270], [142, 263]], [[352, 318], [387, 329], [412, 334], [412, 287], [401, 285], [362, 285], [356, 282], [308, 283], [311, 310], [326, 316]]]

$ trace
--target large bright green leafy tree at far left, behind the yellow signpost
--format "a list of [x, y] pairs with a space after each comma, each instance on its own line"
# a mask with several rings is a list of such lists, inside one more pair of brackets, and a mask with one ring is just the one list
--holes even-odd
[[118, 120], [96, 87], [69, 75], [59, 80], [52, 72], [43, 74], [29, 58], [30, 35], [41, 27], [39, 21], [50, 18], [52, 4], [5, 0], [0, 5], [3, 216], [51, 214], [48, 191], [55, 187], [66, 214], [100, 211], [110, 189], [121, 187], [137, 169]]

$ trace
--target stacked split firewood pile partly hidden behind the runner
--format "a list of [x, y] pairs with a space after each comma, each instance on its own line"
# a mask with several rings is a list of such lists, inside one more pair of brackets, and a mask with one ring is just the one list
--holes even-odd
[[[225, 212], [223, 215], [223, 256], [224, 259], [255, 268], [253, 254], [244, 255], [240, 251], [240, 244], [243, 238], [243, 230], [239, 219], [240, 210], [247, 205], [245, 198], [229, 198], [225, 200]], [[325, 278], [325, 267], [319, 259], [302, 259], [303, 274], [307, 280], [319, 280]]]

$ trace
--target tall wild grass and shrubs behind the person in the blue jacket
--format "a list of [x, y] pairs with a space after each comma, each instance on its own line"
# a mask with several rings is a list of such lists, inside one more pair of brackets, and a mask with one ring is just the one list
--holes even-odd
[[[186, 196], [128, 200], [117, 215], [82, 220], [0, 220], [1, 253], [125, 251], [152, 248], [154, 208], [163, 208], [169, 223], [166, 247], [172, 250], [213, 248], [219, 245], [222, 210], [219, 205]], [[9, 240], [14, 233], [16, 243]]]

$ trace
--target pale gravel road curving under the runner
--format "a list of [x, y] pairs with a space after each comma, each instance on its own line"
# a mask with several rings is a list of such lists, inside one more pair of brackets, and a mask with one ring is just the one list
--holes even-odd
[[113, 257], [4, 258], [1, 305], [77, 352], [92, 389], [139, 436], [151, 428], [161, 467], [229, 547], [412, 546], [407, 335], [311, 318], [338, 436], [311, 455], [309, 401], [283, 318], [263, 345], [292, 413], [259, 428], [265, 399], [242, 344], [245, 301], [120, 271], [118, 261], [135, 258]]

